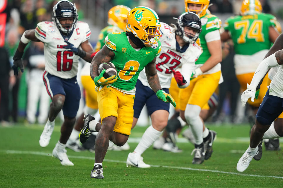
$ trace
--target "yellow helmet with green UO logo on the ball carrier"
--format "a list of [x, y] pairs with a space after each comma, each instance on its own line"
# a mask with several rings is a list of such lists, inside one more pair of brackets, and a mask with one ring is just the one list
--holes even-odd
[[[160, 21], [156, 12], [145, 6], [138, 6], [131, 9], [127, 16], [127, 31], [131, 31], [138, 37], [145, 46], [149, 47], [160, 38]], [[149, 40], [149, 35], [154, 38]]]

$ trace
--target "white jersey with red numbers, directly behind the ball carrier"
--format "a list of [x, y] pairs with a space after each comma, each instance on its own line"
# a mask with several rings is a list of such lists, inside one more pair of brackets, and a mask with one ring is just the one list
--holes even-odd
[[[181, 74], [188, 82], [190, 82], [190, 76], [192, 71], [195, 69], [195, 61], [199, 58], [202, 53], [197, 43], [190, 44], [184, 52], [178, 52], [176, 50], [176, 39], [175, 32], [173, 32], [171, 26], [162, 23], [160, 27], [160, 43], [161, 52], [156, 58], [156, 69], [159, 77], [159, 82], [162, 88], [170, 88], [171, 79], [173, 76], [172, 70], [181, 68]], [[139, 80], [143, 85], [149, 86], [145, 70], [139, 74]]]

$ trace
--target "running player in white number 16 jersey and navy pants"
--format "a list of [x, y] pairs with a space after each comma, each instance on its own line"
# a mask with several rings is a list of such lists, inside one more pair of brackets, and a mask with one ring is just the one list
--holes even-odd
[[59, 1], [53, 7], [52, 19], [53, 22], [40, 22], [35, 29], [24, 32], [13, 58], [13, 69], [15, 74], [18, 74], [18, 67], [23, 72], [21, 58], [29, 41], [44, 43], [45, 71], [43, 81], [52, 102], [39, 143], [41, 147], [46, 147], [49, 144], [55, 125], [55, 117], [62, 109], [64, 122], [61, 126], [61, 136], [52, 155], [57, 157], [62, 165], [73, 166], [74, 164], [66, 155], [65, 144], [72, 132], [79, 108], [80, 88], [76, 78], [78, 60], [83, 58], [85, 61], [91, 62], [91, 54], [94, 50], [88, 42], [91, 35], [88, 24], [77, 21], [77, 9], [73, 3], [67, 0]]

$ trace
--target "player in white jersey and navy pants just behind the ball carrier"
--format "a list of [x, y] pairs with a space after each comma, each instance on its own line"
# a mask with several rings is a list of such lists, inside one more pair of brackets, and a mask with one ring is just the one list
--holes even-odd
[[[190, 84], [190, 76], [195, 67], [195, 61], [202, 53], [195, 43], [201, 32], [201, 22], [197, 14], [186, 12], [177, 19], [177, 26], [173, 27], [161, 23], [160, 43], [162, 49], [156, 60], [156, 69], [161, 87], [169, 92], [172, 76], [174, 75], [180, 88], [186, 88]], [[181, 67], [181, 71], [177, 68]], [[143, 162], [141, 154], [159, 138], [167, 125], [169, 116], [169, 104], [159, 102], [150, 85], [147, 82], [146, 73], [142, 71], [136, 83], [136, 97], [134, 100], [133, 127], [139, 118], [144, 105], [151, 117], [152, 125], [144, 132], [141, 141], [134, 152], [129, 153], [127, 166], [148, 168], [149, 164]]]

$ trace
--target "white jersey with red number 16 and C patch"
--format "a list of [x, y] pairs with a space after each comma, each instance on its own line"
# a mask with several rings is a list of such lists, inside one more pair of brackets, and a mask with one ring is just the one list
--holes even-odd
[[[79, 48], [90, 35], [88, 24], [78, 21], [68, 42]], [[38, 23], [35, 36], [44, 43], [45, 70], [48, 73], [60, 78], [73, 78], [77, 75], [80, 57], [63, 48], [67, 43], [53, 21]]]

